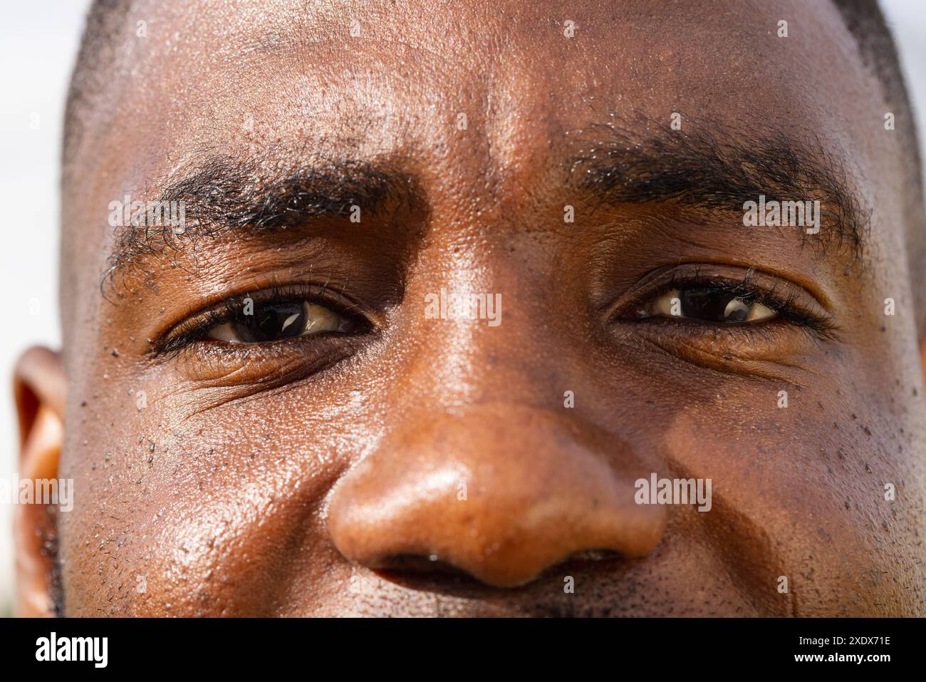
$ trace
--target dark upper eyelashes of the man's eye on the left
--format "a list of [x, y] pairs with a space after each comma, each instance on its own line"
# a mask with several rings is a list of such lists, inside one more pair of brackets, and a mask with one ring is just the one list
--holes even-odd
[[[245, 293], [241, 296], [226, 298], [221, 301], [217, 307], [208, 309], [196, 315], [194, 318], [181, 322], [173, 327], [168, 334], [165, 335], [164, 341], [162, 341], [156, 349], [159, 353], [170, 356], [178, 353], [185, 347], [206, 341], [206, 334], [214, 326], [227, 322], [234, 322], [244, 313], [244, 299], [248, 297], [254, 301], [256, 307], [268, 303], [309, 301], [316, 305], [331, 309], [332, 312], [357, 323], [361, 330], [357, 332], [357, 334], [362, 334], [371, 330], [371, 322], [357, 312], [359, 306], [346, 305], [344, 301], [332, 300], [332, 296], [330, 294], [326, 296], [324, 291], [325, 290], [319, 286], [307, 284], [275, 284], [260, 289], [254, 294]], [[320, 333], [312, 335], [312, 337], [323, 337], [325, 335], [329, 335], [329, 333]], [[279, 343], [292, 343], [297, 338], [299, 337], [285, 339]], [[219, 342], [217, 342], [216, 345], [219, 345]], [[263, 344], [265, 347], [270, 345], [272, 344]]]

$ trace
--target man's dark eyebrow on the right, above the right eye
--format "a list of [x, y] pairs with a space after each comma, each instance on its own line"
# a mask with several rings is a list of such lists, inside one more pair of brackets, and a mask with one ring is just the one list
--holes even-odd
[[[820, 258], [836, 246], [862, 265], [870, 208], [851, 188], [845, 167], [820, 140], [798, 143], [781, 131], [747, 133], [685, 120], [684, 131], [653, 122], [595, 124], [574, 136], [569, 183], [599, 204], [671, 201], [684, 207], [743, 213], [745, 201], [820, 200], [820, 234], [800, 234]], [[635, 130], [663, 129], [641, 138]], [[761, 230], [762, 227], [742, 229]], [[851, 267], [850, 266], [850, 267]]]

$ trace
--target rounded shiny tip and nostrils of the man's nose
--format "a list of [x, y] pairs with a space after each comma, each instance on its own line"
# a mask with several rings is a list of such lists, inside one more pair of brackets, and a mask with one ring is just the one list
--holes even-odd
[[516, 587], [576, 553], [642, 556], [662, 536], [665, 509], [634, 501], [648, 472], [613, 436], [507, 405], [414, 422], [333, 491], [329, 532], [351, 561], [419, 557]]

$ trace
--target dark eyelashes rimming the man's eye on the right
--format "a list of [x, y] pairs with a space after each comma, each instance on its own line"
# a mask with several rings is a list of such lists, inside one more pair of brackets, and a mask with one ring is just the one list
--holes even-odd
[[[741, 298], [745, 301], [761, 303], [764, 306], [778, 313], [778, 318], [770, 322], [742, 322], [737, 324], [722, 324], [715, 322], [701, 322], [690, 318], [643, 318], [633, 319], [635, 322], [669, 322], [675, 325], [687, 325], [689, 327], [723, 329], [735, 334], [758, 335], [768, 334], [770, 327], [776, 322], [787, 322], [793, 326], [807, 331], [817, 338], [832, 338], [835, 331], [835, 323], [832, 317], [812, 313], [806, 307], [799, 303], [799, 295], [792, 292], [781, 292], [776, 286], [765, 287], [755, 283], [755, 276], [752, 271], [747, 272], [744, 277], [731, 279], [720, 276], [710, 276], [699, 270], [690, 273], [673, 272], [668, 283], [661, 284], [656, 290], [647, 290], [634, 297], [629, 308], [638, 307], [644, 301], [663, 296], [673, 289], [690, 289], [695, 287], [705, 287], [717, 292], [723, 292], [732, 297]], [[652, 321], [652, 322], [651, 322]]]

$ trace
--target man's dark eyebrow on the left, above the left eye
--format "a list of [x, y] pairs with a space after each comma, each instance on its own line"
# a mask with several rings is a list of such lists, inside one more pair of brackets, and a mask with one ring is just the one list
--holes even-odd
[[[195, 240], [243, 229], [285, 230], [307, 218], [346, 217], [355, 205], [363, 215], [376, 215], [390, 207], [410, 205], [412, 186], [406, 174], [352, 158], [316, 158], [293, 165], [213, 155], [175, 172], [159, 191], [144, 194], [162, 206], [182, 203], [183, 238]], [[174, 226], [120, 228], [104, 282], [142, 255], [165, 247], [180, 248]]]

